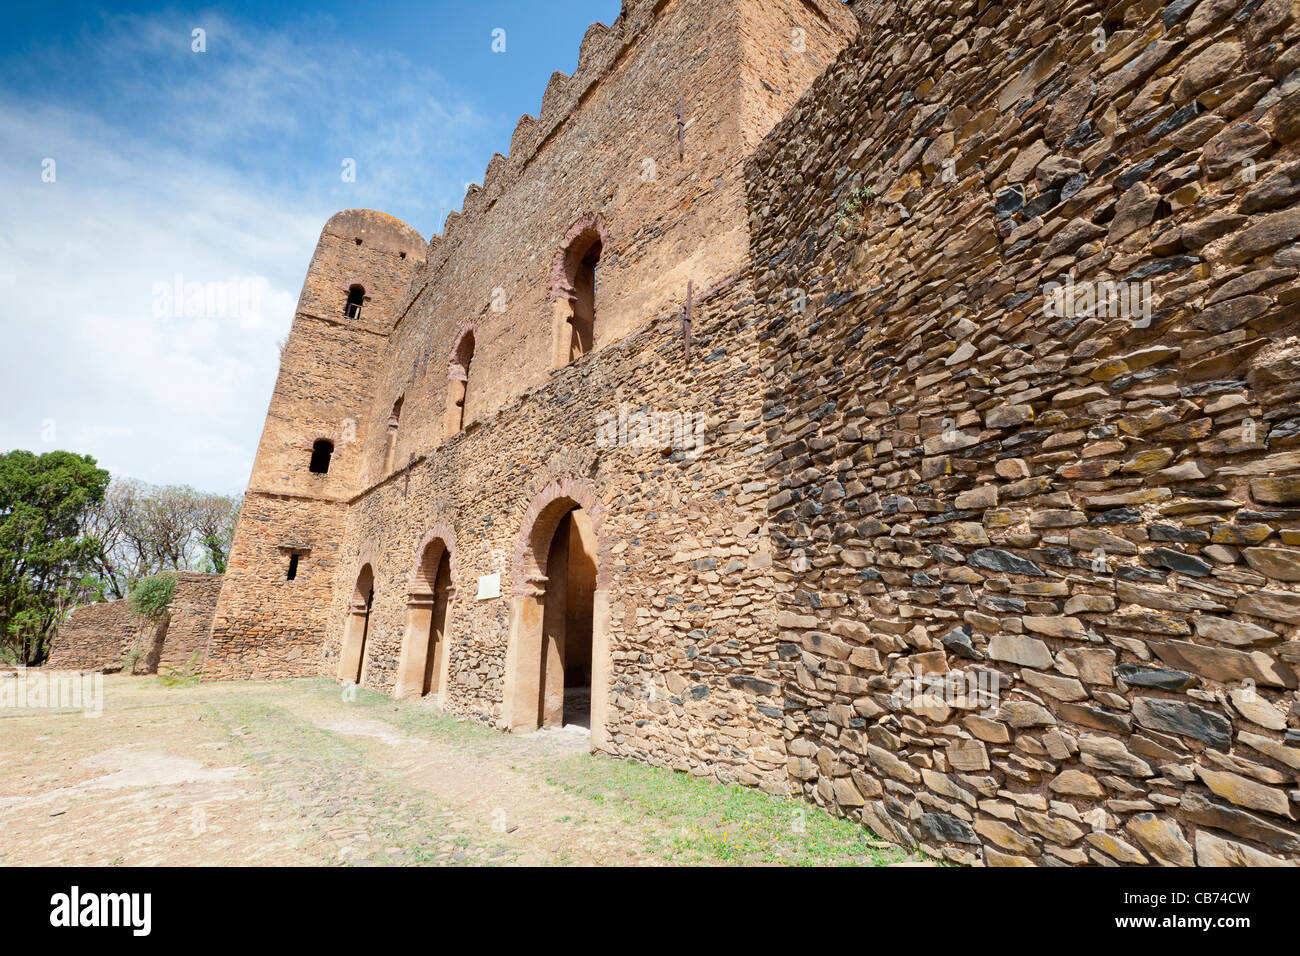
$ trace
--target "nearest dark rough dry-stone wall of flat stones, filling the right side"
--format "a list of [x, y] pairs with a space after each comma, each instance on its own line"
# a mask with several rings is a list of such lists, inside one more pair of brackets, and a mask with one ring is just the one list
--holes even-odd
[[1297, 5], [858, 8], [749, 170], [792, 780], [963, 862], [1300, 858]]

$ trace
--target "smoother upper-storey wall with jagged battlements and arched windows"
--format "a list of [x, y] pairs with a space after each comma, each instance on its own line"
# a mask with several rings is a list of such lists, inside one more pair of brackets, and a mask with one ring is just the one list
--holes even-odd
[[[443, 442], [448, 365], [467, 330], [465, 424], [546, 385], [556, 256], [575, 224], [598, 219], [603, 237], [597, 351], [680, 307], [688, 281], [702, 290], [748, 261], [744, 159], [855, 22], [842, 5], [800, 0], [651, 7], [627, 4], [611, 27], [588, 31], [575, 77], [556, 74], [542, 99], [546, 134], [523, 142], [534, 124], [524, 117], [511, 156], [493, 159], [486, 185], [430, 241], [364, 415], [386, 421], [402, 398], [393, 468]], [[560, 88], [581, 90], [568, 113]], [[382, 428], [363, 436], [358, 492], [389, 477], [386, 441]]]

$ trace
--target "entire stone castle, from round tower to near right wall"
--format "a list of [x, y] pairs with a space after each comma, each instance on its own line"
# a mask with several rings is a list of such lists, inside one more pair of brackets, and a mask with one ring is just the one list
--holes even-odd
[[1300, 0], [624, 4], [326, 224], [208, 644], [988, 865], [1300, 860]]

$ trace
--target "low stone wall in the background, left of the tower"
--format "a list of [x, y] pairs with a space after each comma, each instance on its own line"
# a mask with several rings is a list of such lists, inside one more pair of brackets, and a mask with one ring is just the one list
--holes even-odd
[[127, 601], [77, 607], [58, 628], [47, 667], [118, 671], [130, 658], [133, 674], [183, 667], [207, 650], [221, 575], [181, 571], [166, 617], [152, 622]]

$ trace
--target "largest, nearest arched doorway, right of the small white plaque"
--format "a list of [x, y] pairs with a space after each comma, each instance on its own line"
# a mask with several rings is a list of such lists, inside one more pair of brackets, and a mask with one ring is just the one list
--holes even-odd
[[604, 741], [608, 696], [607, 557], [602, 505], [585, 481], [560, 481], [533, 502], [515, 553], [506, 653], [508, 730], [577, 724]]

